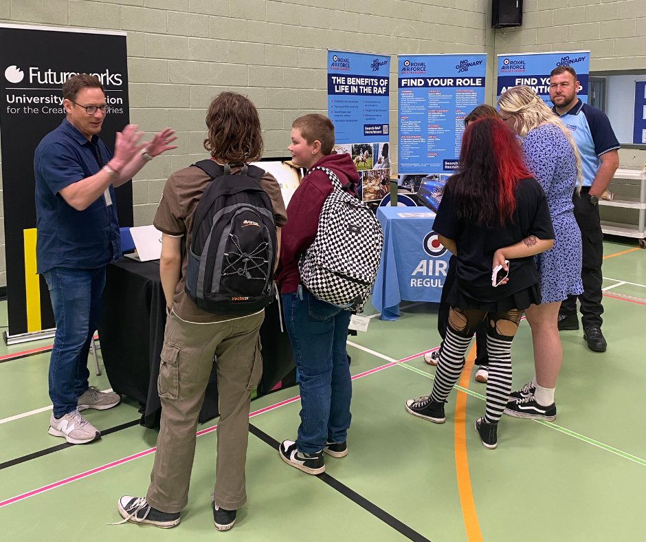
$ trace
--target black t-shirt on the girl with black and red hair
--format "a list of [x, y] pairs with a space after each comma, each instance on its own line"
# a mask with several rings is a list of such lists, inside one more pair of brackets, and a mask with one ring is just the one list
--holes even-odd
[[498, 301], [535, 285], [539, 274], [534, 257], [509, 261], [509, 283], [504, 288], [491, 285], [493, 253], [513, 245], [530, 235], [538, 239], [554, 239], [550, 210], [543, 189], [533, 178], [521, 180], [515, 190], [516, 208], [504, 226], [496, 221], [491, 228], [477, 226], [459, 219], [449, 181], [434, 221], [433, 229], [458, 247], [456, 277], [460, 290], [478, 301]]

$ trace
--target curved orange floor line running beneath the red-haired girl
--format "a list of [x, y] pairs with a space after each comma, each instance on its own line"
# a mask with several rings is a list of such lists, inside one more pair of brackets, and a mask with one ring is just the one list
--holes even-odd
[[[467, 363], [460, 376], [460, 386], [469, 387], [471, 380], [471, 369], [474, 367], [476, 360], [476, 343], [469, 350]], [[458, 478], [458, 495], [460, 495], [460, 505], [462, 506], [462, 517], [465, 522], [467, 531], [467, 540], [469, 542], [482, 542], [482, 533], [478, 523], [478, 514], [476, 512], [476, 503], [474, 502], [474, 492], [471, 490], [471, 478], [469, 477], [469, 460], [467, 459], [467, 433], [465, 425], [465, 415], [467, 412], [467, 394], [456, 394], [456, 413], [454, 422], [454, 446], [456, 454], [456, 475]]]

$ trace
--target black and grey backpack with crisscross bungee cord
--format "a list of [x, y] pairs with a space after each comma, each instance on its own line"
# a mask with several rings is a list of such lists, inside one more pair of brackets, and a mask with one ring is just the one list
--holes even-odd
[[201, 309], [214, 314], [252, 314], [274, 299], [276, 222], [265, 171], [201, 160], [192, 166], [212, 181], [197, 204], [187, 248], [184, 290]]

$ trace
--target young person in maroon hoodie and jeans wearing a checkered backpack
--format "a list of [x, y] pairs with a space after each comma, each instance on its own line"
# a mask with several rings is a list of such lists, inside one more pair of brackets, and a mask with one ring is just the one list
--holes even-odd
[[[364, 227], [361, 221], [357, 224], [354, 220], [346, 221], [346, 235], [332, 236], [340, 241], [337, 246], [342, 248], [328, 249], [329, 254], [325, 250], [320, 253], [318, 248], [321, 247], [317, 248], [322, 240], [320, 224], [330, 220], [343, 224], [343, 218], [326, 217], [333, 202], [337, 202], [336, 207], [343, 205], [339, 202], [346, 202], [348, 208], [354, 208], [353, 202], [363, 205], [354, 196], [359, 180], [355, 164], [347, 153], [332, 154], [333, 144], [334, 127], [326, 116], [309, 114], [293, 122], [289, 151], [293, 162], [308, 171], [287, 207], [288, 222], [282, 228], [276, 272], [285, 326], [300, 374], [302, 407], [298, 436], [293, 441], [282, 442], [279, 453], [285, 463], [313, 475], [324, 472], [324, 453], [331, 457], [344, 457], [348, 453], [346, 440], [350, 427], [352, 382], [346, 351], [350, 324], [350, 310], [347, 309], [357, 298], [359, 302], [364, 301], [365, 289], [369, 293], [372, 282], [366, 273], [365, 280], [359, 276], [361, 283], [357, 283], [359, 289], [355, 292], [337, 286], [336, 291], [333, 288], [333, 296], [326, 298], [318, 288], [322, 288], [328, 279], [333, 281], [334, 277], [326, 279], [326, 271], [323, 270], [319, 279], [307, 280], [304, 275], [311, 265], [305, 254], [319, 253], [319, 263], [323, 264], [322, 268], [331, 267], [328, 270], [331, 275], [335, 275], [335, 271], [340, 273], [335, 267], [339, 260], [359, 261], [366, 268], [375, 263], [374, 258], [366, 261], [361, 257], [350, 258], [353, 250], [350, 247], [353, 242], [350, 228], [361, 230]], [[345, 192], [342, 187], [345, 187]], [[369, 235], [381, 243], [379, 228], [370, 230]], [[346, 238], [339, 240], [338, 237]], [[306, 265], [300, 270], [302, 258]], [[379, 257], [376, 265], [379, 265]]]

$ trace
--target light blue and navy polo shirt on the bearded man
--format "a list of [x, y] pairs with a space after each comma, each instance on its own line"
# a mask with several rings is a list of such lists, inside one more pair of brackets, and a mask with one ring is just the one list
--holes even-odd
[[[556, 113], [556, 107], [552, 111]], [[577, 105], [560, 118], [579, 149], [583, 186], [592, 186], [601, 165], [599, 156], [620, 147], [610, 120], [601, 109], [584, 104], [581, 100], [577, 100]]]

